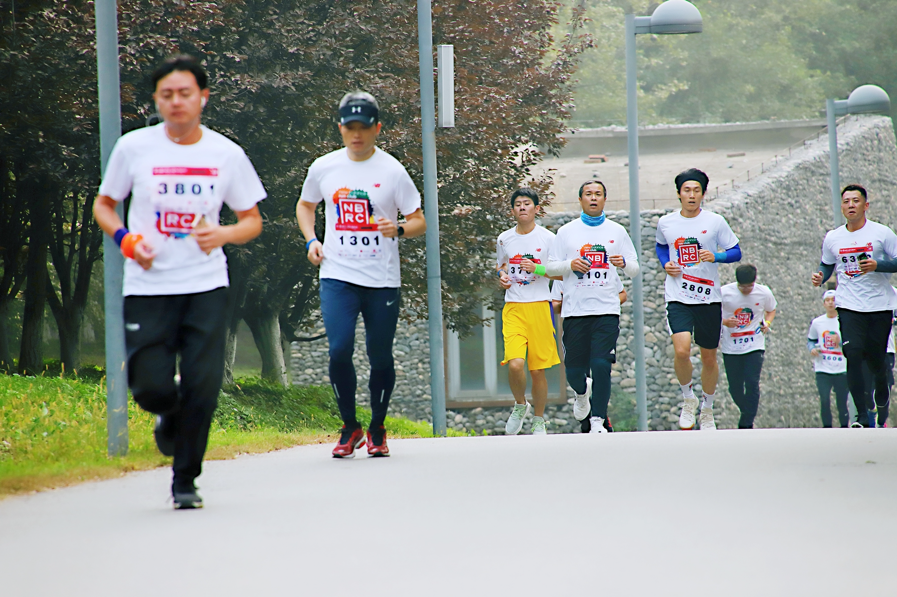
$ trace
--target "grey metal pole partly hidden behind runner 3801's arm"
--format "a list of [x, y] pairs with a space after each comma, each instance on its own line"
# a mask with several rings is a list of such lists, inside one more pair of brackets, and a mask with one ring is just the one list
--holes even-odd
[[[112, 147], [121, 136], [121, 95], [118, 72], [118, 7], [115, 0], [97, 0], [97, 88], [100, 102], [100, 175]], [[118, 206], [119, 215], [122, 213]], [[104, 235], [103, 283], [106, 313], [106, 433], [110, 456], [128, 453], [128, 373], [125, 368], [124, 257], [115, 241]]]

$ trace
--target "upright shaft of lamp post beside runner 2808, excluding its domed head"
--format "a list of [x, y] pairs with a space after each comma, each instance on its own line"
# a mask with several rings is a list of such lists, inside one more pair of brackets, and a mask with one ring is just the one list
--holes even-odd
[[[629, 236], [642, 260], [642, 219], [638, 190], [638, 98], [635, 82], [635, 15], [626, 15], [626, 132], [629, 145]], [[638, 430], [648, 430], [648, 382], [645, 377], [645, 308], [642, 273], [632, 279], [632, 344], [635, 353], [635, 404]]]

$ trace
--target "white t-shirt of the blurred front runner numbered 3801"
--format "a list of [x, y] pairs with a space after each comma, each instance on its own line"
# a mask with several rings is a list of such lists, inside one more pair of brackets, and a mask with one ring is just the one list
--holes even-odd
[[125, 296], [227, 286], [224, 251], [206, 254], [191, 233], [201, 220], [218, 225], [222, 203], [246, 211], [266, 197], [239, 145], [204, 126], [197, 143], [179, 145], [161, 123], [120, 137], [112, 149], [100, 195], [123, 201], [128, 194], [128, 229], [142, 235], [156, 257], [148, 270], [125, 260]]

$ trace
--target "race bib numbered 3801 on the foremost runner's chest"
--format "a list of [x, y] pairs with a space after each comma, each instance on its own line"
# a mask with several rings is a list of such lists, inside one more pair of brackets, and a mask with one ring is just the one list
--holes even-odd
[[170, 238], [193, 233], [215, 207], [217, 168], [153, 168], [152, 201], [156, 228]]

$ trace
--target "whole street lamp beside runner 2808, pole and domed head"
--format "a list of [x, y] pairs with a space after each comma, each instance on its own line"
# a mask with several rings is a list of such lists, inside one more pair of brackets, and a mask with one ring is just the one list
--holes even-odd
[[[626, 15], [626, 129], [629, 139], [629, 236], [642, 257], [641, 208], [638, 190], [638, 99], [635, 80], [635, 36], [644, 33], [700, 33], [703, 20], [686, 0], [667, 0], [650, 17]], [[706, 189], [705, 189], [706, 190]], [[648, 430], [648, 382], [645, 376], [645, 312], [642, 274], [632, 279], [632, 340], [635, 353], [635, 394], [638, 430]]]

